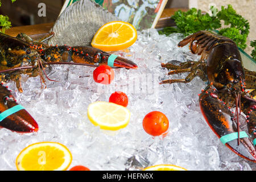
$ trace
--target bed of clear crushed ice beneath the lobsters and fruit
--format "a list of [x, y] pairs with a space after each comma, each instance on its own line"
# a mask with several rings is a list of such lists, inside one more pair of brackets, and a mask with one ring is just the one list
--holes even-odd
[[[60, 142], [71, 150], [71, 167], [91, 170], [141, 170], [155, 164], [174, 164], [188, 170], [251, 170], [252, 164], [230, 151], [218, 140], [201, 115], [198, 93], [205, 83], [196, 77], [188, 84], [164, 84], [167, 76], [161, 63], [198, 60], [188, 47], [179, 48], [180, 34], [159, 35], [155, 29], [138, 32], [130, 52], [115, 54], [133, 60], [137, 70], [115, 69], [110, 85], [93, 81], [93, 67], [55, 65], [47, 69], [47, 88], [40, 78], [22, 77], [24, 92], [15, 92], [19, 104], [39, 124], [38, 133], [17, 134], [0, 130], [0, 170], [16, 170], [15, 159], [29, 144]], [[16, 90], [13, 81], [6, 84]], [[95, 101], [108, 101], [111, 93], [122, 91], [129, 97], [129, 125], [118, 132], [102, 131], [86, 117]], [[166, 114], [170, 127], [165, 138], [152, 138], [142, 127], [144, 115], [153, 110]]]

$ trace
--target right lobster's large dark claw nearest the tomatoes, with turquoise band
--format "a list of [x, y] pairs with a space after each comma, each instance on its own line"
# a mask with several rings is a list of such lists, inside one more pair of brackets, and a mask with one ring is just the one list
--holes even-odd
[[199, 96], [201, 112], [210, 128], [230, 150], [237, 155], [256, 162], [256, 150], [253, 143], [242, 129], [240, 143], [238, 144], [238, 128], [234, 122], [234, 115], [224, 102], [218, 99], [217, 89], [209, 85]]

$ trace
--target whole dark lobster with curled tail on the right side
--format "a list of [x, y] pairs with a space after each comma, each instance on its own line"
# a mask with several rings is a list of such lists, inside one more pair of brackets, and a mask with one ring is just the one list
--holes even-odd
[[[208, 85], [199, 94], [199, 105], [205, 121], [213, 132], [237, 155], [256, 162], [256, 72], [243, 68], [236, 43], [225, 36], [199, 31], [187, 36], [177, 46], [189, 44], [193, 54], [201, 55], [199, 61], [174, 65], [162, 63], [171, 70], [168, 75], [188, 72], [184, 79], [170, 79], [160, 84], [190, 82], [196, 76]], [[250, 92], [250, 93], [249, 93]], [[246, 114], [247, 129], [241, 129], [240, 114]], [[249, 135], [248, 135], [249, 134]]]

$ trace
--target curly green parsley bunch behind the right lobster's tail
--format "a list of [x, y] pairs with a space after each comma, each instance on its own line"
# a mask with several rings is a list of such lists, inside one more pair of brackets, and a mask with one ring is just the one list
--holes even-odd
[[[178, 10], [171, 17], [175, 20], [177, 28], [166, 27], [163, 31], [159, 31], [159, 34], [169, 35], [179, 32], [187, 36], [200, 30], [219, 30], [218, 34], [227, 36], [234, 40], [238, 47], [245, 49], [250, 28], [248, 21], [238, 15], [232, 5], [228, 5], [226, 8], [222, 6], [220, 11], [212, 6], [210, 11], [212, 15], [202, 13], [201, 10], [195, 8], [186, 12]], [[221, 24], [222, 21], [224, 25]]]

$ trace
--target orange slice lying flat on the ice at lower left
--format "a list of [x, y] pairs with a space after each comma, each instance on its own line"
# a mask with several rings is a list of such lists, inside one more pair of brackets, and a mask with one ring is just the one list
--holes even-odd
[[64, 171], [71, 162], [71, 152], [63, 144], [39, 142], [19, 153], [16, 168], [19, 171]]

